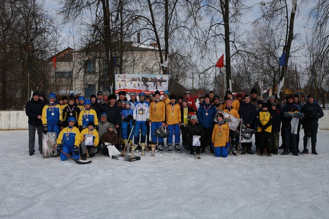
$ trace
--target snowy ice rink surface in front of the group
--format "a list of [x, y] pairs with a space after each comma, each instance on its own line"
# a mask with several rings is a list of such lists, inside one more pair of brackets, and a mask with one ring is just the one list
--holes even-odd
[[182, 150], [78, 165], [29, 156], [27, 130], [0, 131], [0, 218], [328, 218], [328, 134], [318, 132], [319, 155]]

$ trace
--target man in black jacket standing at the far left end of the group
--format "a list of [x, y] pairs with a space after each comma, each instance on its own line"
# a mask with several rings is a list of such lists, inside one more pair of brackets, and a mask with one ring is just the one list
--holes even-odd
[[29, 117], [29, 153], [34, 155], [35, 129], [38, 130], [39, 136], [39, 151], [42, 154], [42, 131], [43, 125], [41, 121], [42, 109], [45, 102], [39, 98], [39, 92], [33, 92], [33, 97], [26, 103], [25, 113]]

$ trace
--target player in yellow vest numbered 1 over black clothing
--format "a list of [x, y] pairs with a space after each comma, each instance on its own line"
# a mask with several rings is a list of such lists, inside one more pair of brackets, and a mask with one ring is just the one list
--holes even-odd
[[264, 156], [264, 149], [266, 148], [267, 156], [271, 156], [269, 149], [269, 140], [272, 132], [272, 115], [268, 111], [268, 104], [263, 103], [262, 110], [258, 113], [256, 117], [256, 122], [258, 125], [257, 132], [258, 135], [258, 147], [260, 149], [260, 156]]

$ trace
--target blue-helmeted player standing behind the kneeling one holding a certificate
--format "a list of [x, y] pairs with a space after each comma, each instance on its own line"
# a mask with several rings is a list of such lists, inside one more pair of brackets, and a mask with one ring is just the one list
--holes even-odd
[[98, 130], [99, 126], [98, 126], [98, 120], [97, 120], [97, 113], [95, 110], [90, 108], [90, 105], [92, 105], [92, 102], [90, 101], [90, 99], [86, 99], [86, 101], [84, 102], [84, 105], [85, 105], [85, 109], [83, 109], [79, 115], [79, 121], [78, 121], [79, 130], [82, 131], [84, 128], [86, 128], [90, 121], [94, 122], [96, 130]]

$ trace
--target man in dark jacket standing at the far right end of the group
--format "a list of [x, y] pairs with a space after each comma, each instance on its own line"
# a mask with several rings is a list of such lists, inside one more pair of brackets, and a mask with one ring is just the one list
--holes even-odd
[[323, 110], [318, 103], [314, 102], [314, 95], [307, 96], [307, 103], [303, 106], [304, 115], [304, 150], [302, 153], [308, 153], [307, 138], [311, 138], [312, 154], [318, 154], [315, 150], [317, 144], [318, 120], [323, 116]]

